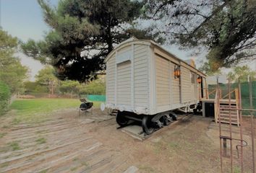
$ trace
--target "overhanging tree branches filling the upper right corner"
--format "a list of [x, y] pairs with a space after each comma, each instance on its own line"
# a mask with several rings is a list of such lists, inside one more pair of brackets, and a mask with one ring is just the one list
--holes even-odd
[[256, 58], [254, 0], [149, 0], [147, 15], [175, 43], [208, 48], [208, 70]]

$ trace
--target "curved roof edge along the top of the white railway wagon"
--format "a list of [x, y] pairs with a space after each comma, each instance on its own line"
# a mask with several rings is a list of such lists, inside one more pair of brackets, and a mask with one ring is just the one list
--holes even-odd
[[204, 74], [202, 71], [199, 71], [197, 68], [195, 68], [194, 66], [191, 66], [189, 63], [187, 63], [186, 61], [182, 60], [181, 58], [178, 58], [177, 56], [175, 56], [173, 53], [171, 53], [170, 51], [166, 50], [166, 48], [163, 48], [163, 46], [159, 45], [158, 43], [155, 43], [153, 40], [139, 40], [136, 37], [130, 37], [129, 39], [123, 41], [122, 43], [120, 43], [119, 45], [116, 45], [116, 47], [114, 48], [114, 50], [111, 51], [111, 53], [108, 54], [108, 56], [105, 59], [105, 63], [108, 61], [108, 59], [114, 54], [114, 52], [116, 52], [116, 50], [118, 50], [119, 48], [124, 48], [128, 45], [132, 45], [132, 43], [140, 43], [143, 45], [153, 45], [156, 48], [159, 48], [160, 50], [162, 50], [163, 52], [166, 52], [169, 56], [174, 57], [176, 60], [181, 61], [183, 63], [185, 63], [187, 66], [189, 66], [190, 68], [194, 68], [197, 72], [199, 72], [202, 76], [206, 77], [207, 75]]

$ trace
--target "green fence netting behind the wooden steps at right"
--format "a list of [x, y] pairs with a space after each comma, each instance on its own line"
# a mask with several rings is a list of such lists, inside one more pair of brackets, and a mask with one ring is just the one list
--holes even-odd
[[[231, 90], [238, 88], [238, 83], [232, 83]], [[216, 89], [216, 84], [214, 85], [208, 85], [209, 93]], [[222, 96], [225, 96], [229, 93], [228, 90], [228, 84], [219, 84], [219, 87], [222, 92]], [[212, 94], [209, 94], [210, 99], [214, 99], [216, 92], [213, 92]], [[241, 97], [242, 97], [242, 108], [243, 109], [249, 109], [249, 83], [243, 82], [241, 83]], [[229, 99], [229, 97], [226, 97], [226, 99]], [[231, 94], [231, 99], [235, 99], [235, 93], [233, 92]], [[256, 81], [252, 81], [252, 109], [256, 110]], [[256, 112], [253, 112], [254, 115], [256, 115]], [[242, 115], [250, 115], [250, 112], [248, 111], [242, 111]]]

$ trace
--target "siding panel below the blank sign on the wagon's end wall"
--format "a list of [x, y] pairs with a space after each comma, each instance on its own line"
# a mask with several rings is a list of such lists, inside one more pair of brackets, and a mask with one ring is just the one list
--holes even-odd
[[117, 104], [131, 105], [131, 61], [117, 64]]

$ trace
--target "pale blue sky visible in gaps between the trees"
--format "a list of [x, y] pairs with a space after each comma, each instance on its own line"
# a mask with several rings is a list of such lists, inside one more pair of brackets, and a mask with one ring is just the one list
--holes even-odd
[[[59, 0], [48, 0], [52, 6], [56, 6]], [[0, 0], [0, 25], [3, 30], [12, 36], [18, 37], [22, 41], [28, 39], [41, 40], [43, 35], [49, 30], [43, 21], [43, 14], [37, 0]], [[205, 58], [205, 53], [197, 57], [192, 57], [190, 52], [179, 50], [172, 45], [165, 46], [167, 50], [184, 60], [193, 58], [199, 63], [200, 59]], [[38, 62], [22, 53], [17, 53], [22, 63], [30, 68], [30, 80], [34, 80], [35, 74], [43, 68]], [[249, 66], [256, 70], [256, 63], [249, 63]]]

